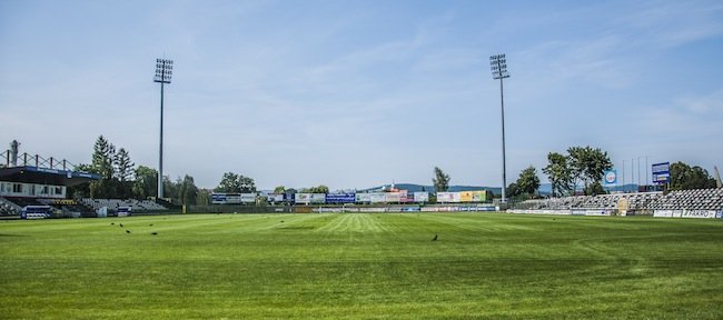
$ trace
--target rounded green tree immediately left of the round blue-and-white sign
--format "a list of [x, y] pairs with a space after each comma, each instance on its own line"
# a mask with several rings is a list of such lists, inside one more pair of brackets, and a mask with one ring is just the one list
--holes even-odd
[[[574, 181], [582, 181], [585, 192], [593, 190], [590, 187], [593, 182], [600, 182], [605, 174], [605, 170], [613, 168], [613, 163], [607, 157], [607, 152], [600, 148], [591, 147], [572, 147], [567, 149], [570, 154], [570, 168]], [[575, 183], [576, 186], [576, 183]]]

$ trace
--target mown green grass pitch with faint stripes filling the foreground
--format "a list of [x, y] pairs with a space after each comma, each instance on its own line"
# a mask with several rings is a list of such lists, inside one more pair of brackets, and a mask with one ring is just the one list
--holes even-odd
[[721, 219], [0, 221], [0, 250], [2, 319], [723, 318]]

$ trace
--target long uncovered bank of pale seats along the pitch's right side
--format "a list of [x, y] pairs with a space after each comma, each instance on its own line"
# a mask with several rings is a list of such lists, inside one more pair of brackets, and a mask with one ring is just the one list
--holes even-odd
[[[625, 201], [621, 201], [625, 200]], [[663, 192], [573, 196], [527, 200], [515, 203], [515, 209], [570, 210], [616, 209], [627, 202], [628, 210], [723, 210], [723, 188]]]

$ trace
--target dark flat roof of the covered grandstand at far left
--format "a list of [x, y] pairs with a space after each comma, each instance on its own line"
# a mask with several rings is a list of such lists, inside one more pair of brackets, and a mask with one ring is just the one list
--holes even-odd
[[76, 186], [100, 180], [96, 173], [58, 170], [38, 167], [0, 168], [0, 181], [53, 186]]

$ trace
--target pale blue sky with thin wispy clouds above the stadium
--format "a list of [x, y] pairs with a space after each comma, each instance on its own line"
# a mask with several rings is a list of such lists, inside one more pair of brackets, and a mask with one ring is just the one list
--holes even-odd
[[166, 57], [172, 179], [351, 189], [438, 166], [499, 186], [496, 53], [508, 183], [531, 164], [546, 181], [547, 152], [573, 146], [628, 182], [633, 159], [723, 164], [720, 1], [4, 0], [0, 142], [87, 163], [102, 134], [157, 168]]

